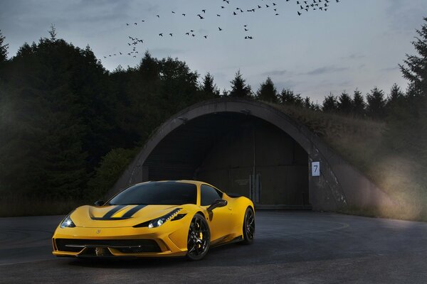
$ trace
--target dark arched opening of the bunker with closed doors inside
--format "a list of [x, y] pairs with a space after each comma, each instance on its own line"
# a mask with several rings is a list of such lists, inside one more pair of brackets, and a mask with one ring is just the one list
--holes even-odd
[[287, 133], [243, 113], [199, 116], [174, 129], [142, 165], [146, 180], [203, 180], [257, 209], [310, 209], [308, 154]]

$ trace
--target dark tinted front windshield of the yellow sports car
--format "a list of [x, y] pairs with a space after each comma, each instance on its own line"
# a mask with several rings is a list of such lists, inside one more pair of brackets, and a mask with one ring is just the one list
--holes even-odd
[[132, 185], [112, 198], [108, 204], [196, 204], [197, 187], [184, 182], [147, 182]]

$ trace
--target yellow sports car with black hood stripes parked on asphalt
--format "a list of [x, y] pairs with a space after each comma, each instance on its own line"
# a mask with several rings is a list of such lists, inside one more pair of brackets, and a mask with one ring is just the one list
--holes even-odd
[[203, 258], [210, 246], [255, 235], [253, 202], [193, 180], [142, 182], [81, 206], [53, 234], [53, 254]]

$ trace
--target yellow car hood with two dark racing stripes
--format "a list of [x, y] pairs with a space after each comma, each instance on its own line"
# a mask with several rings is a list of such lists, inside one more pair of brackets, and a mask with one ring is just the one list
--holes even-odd
[[117, 228], [135, 226], [164, 216], [179, 205], [109, 205], [78, 207], [70, 215], [75, 226]]

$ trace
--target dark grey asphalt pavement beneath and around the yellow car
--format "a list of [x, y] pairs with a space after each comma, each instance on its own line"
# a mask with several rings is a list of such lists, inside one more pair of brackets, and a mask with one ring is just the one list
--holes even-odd
[[51, 236], [62, 218], [0, 218], [0, 283], [427, 283], [422, 222], [258, 211], [253, 245], [192, 262], [56, 258]]

